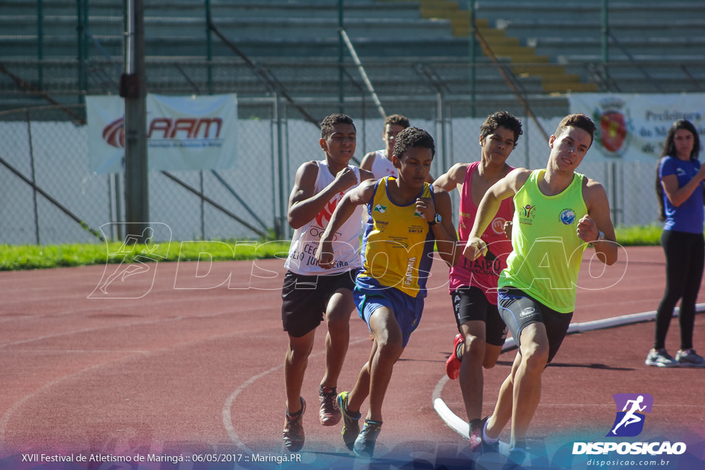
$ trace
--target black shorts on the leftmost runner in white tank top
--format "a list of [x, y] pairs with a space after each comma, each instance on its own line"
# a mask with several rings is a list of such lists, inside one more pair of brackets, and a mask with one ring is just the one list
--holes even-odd
[[[353, 292], [355, 269], [325, 276], [302, 276], [286, 271], [281, 287], [281, 323], [284, 331], [301, 338], [321, 324], [328, 301], [338, 289]], [[352, 297], [350, 297], [352, 299]], [[350, 303], [350, 311], [355, 306]]]

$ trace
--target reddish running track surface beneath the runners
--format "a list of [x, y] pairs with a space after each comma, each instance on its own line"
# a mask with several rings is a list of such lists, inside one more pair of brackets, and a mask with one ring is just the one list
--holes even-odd
[[[656, 309], [664, 283], [660, 247], [628, 248], [604, 272], [601, 264], [589, 264], [586, 253], [574, 321]], [[226, 460], [235, 455], [237, 464], [189, 464], [286, 466], [252, 462], [287, 455], [281, 442], [282, 264], [280, 259], [151, 264], [124, 279], [116, 276], [106, 293], [97, 287], [120, 266], [0, 273], [0, 469], [37, 468], [21, 458], [42, 453], [181, 458], [181, 465], [211, 454]], [[467, 443], [443, 423], [431, 401], [435, 392], [458, 416], [465, 415], [458, 384], [445, 380], [456, 333], [446, 282], [447, 269], [437, 260], [424, 318], [388, 389], [376, 447], [381, 462], [407, 459], [431, 467], [469, 462]], [[703, 290], [699, 302], [705, 302]], [[654, 323], [647, 322], [566, 338], [544, 373], [532, 435], [548, 447], [570, 445], [576, 435], [604, 440], [617, 411], [612, 395], [649, 393], [654, 409], [639, 439], [687, 440], [692, 462], [702, 465], [705, 369], [644, 366], [653, 334]], [[304, 383], [307, 442], [295, 458], [309, 468], [360, 466], [343, 446], [341, 427], [318, 421], [324, 338], [321, 327]], [[702, 315], [695, 345], [705, 352]], [[678, 319], [667, 347], [674, 354], [678, 349]], [[368, 354], [367, 326], [354, 312], [338, 390], [352, 387]], [[485, 373], [486, 414], [514, 354], [503, 353]], [[59, 465], [38, 468], [65, 468]]]

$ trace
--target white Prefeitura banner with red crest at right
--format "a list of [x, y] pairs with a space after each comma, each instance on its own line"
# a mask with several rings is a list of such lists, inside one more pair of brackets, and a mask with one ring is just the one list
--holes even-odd
[[571, 113], [594, 120], [593, 148], [606, 160], [658, 160], [668, 129], [679, 119], [689, 120], [705, 135], [705, 93], [576, 93], [568, 99]]

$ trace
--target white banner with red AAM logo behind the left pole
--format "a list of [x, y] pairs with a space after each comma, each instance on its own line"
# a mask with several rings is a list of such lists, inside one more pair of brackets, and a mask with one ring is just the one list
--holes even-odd
[[[86, 97], [90, 171], [121, 173], [125, 166], [125, 105], [121, 97]], [[150, 170], [233, 168], [237, 154], [235, 94], [167, 97], [147, 94]]]

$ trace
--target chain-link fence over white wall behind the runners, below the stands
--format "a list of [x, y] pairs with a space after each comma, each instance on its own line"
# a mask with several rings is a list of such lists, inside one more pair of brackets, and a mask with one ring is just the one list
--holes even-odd
[[[150, 218], [169, 225], [176, 240], [290, 235], [288, 193], [298, 166], [323, 158], [319, 129], [306, 120], [282, 117], [287, 113], [281, 99], [238, 101], [240, 142], [235, 168], [149, 173]], [[99, 242], [92, 231], [100, 232], [105, 224], [125, 220], [122, 174], [91, 173], [86, 126], [59, 120], [59, 113], [81, 111], [78, 108], [52, 106], [3, 116], [0, 243]], [[267, 108], [268, 117], [262, 115]], [[479, 158], [483, 120], [455, 118], [453, 107], [443, 101], [428, 111], [434, 114], [439, 109], [447, 113], [412, 118], [412, 125], [429, 130], [436, 139], [434, 176], [445, 173], [453, 163]], [[544, 132], [551, 134], [562, 116], [537, 120], [521, 114], [517, 117], [524, 125], [524, 135], [510, 163], [527, 168], [545, 166], [549, 149]], [[384, 147], [384, 121], [376, 116], [353, 118], [359, 135], [355, 152], [359, 161], [365, 152]], [[656, 221], [654, 170], [655, 163], [592, 162], [590, 154], [580, 167], [606, 187], [613, 219], [623, 225]], [[457, 194], [453, 198], [457, 204]], [[113, 230], [118, 225], [109, 226]], [[107, 231], [105, 235], [117, 238], [121, 234]]]

